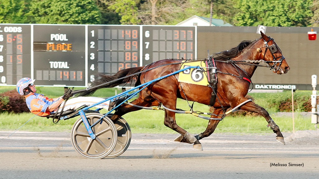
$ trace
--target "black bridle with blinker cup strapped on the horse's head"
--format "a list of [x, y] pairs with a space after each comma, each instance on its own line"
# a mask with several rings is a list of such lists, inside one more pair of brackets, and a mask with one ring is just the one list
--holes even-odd
[[[270, 41], [273, 41], [273, 43], [274, 44], [272, 44], [271, 46], [269, 46], [268, 45], [268, 42], [270, 42]], [[273, 63], [273, 65], [271, 66], [271, 68], [270, 69], [274, 69], [274, 73], [276, 73], [279, 69], [280, 69], [280, 66], [281, 66], [281, 64], [282, 64], [282, 61], [285, 59], [285, 57], [284, 57], [284, 55], [282, 55], [282, 52], [281, 52], [281, 50], [280, 50], [280, 48], [278, 47], [278, 49], [277, 49], [277, 47], [276, 47], [276, 43], [275, 43], [275, 41], [274, 41], [274, 39], [272, 39], [272, 38], [270, 38], [268, 41], [266, 41], [266, 40], [264, 40], [263, 39], [263, 41], [264, 41], [264, 44], [265, 44], [265, 48], [266, 48], [266, 50], [265, 50], [265, 53], [263, 54], [263, 61], [265, 60], [265, 55], [266, 55], [266, 52], [267, 52], [267, 50], [269, 49], [269, 51], [270, 51], [270, 53], [271, 53], [271, 55], [272, 55], [272, 59], [273, 59], [273, 61], [268, 61], [268, 63]], [[263, 47], [262, 47], [263, 48]], [[275, 55], [274, 55], [274, 53], [276, 53], [277, 51], [279, 50], [279, 52], [280, 52], [280, 54], [281, 54], [281, 56], [279, 56], [279, 57], [275, 57]], [[277, 59], [279, 59], [279, 60], [277, 60]], [[279, 64], [278, 64], [279, 63]], [[278, 66], [277, 66], [277, 64], [278, 64]], [[281, 71], [282, 71], [282, 69], [280, 69]], [[283, 71], [282, 71], [282, 73], [283, 73]]]

